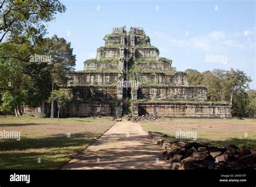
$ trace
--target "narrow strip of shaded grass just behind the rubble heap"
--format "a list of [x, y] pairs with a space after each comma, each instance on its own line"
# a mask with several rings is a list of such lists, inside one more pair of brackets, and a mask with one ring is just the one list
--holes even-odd
[[[192, 139], [177, 139], [175, 136], [167, 136], [165, 138], [166, 140], [171, 140], [171, 141], [193, 141]], [[197, 139], [196, 141], [207, 141], [209, 142], [212, 146], [216, 147], [221, 147], [223, 145], [228, 145], [228, 144], [233, 144], [235, 146], [246, 146], [246, 147], [253, 147], [256, 149], [256, 140], [255, 139], [250, 139], [250, 138], [244, 138], [244, 139], [239, 139], [239, 138], [228, 138], [226, 140], [210, 140], [210, 139]]]

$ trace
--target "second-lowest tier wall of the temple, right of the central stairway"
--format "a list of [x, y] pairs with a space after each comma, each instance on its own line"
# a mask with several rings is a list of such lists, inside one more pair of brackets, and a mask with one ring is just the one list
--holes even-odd
[[205, 87], [142, 86], [138, 89], [138, 99], [143, 98], [206, 101], [207, 89]]

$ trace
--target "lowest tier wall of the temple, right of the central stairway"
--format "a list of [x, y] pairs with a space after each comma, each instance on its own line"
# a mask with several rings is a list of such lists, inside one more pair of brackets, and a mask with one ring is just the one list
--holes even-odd
[[138, 103], [138, 113], [158, 114], [166, 117], [231, 118], [231, 104], [224, 103]]

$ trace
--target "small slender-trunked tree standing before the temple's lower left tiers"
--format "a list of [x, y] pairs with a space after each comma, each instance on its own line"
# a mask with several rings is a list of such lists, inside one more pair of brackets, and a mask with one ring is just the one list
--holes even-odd
[[53, 90], [51, 92], [51, 96], [49, 97], [48, 102], [51, 103], [52, 100], [56, 100], [58, 106], [58, 120], [59, 120], [59, 109], [63, 107], [66, 102], [68, 102], [69, 98], [63, 90]]

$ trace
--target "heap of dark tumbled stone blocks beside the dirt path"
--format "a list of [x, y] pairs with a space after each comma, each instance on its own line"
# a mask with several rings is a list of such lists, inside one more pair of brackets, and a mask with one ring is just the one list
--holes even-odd
[[208, 142], [163, 140], [166, 134], [149, 132], [149, 136], [165, 148], [163, 157], [171, 169], [256, 169], [253, 147], [226, 145], [221, 148]]

